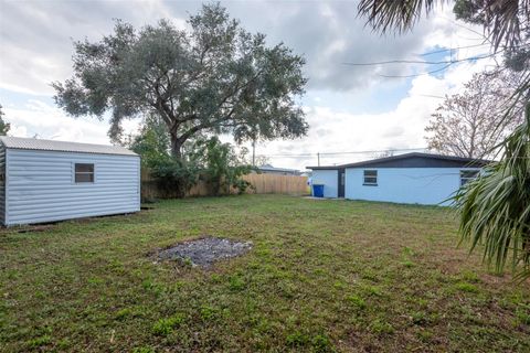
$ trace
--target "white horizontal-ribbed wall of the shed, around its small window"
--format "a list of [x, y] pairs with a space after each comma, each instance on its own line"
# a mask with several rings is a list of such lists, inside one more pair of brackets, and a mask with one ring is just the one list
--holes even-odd
[[[94, 163], [94, 183], [75, 183], [74, 164]], [[140, 210], [138, 156], [7, 150], [6, 225]]]

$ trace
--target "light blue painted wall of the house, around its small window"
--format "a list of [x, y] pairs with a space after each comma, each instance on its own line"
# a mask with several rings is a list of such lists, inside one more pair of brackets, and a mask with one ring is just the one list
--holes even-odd
[[[378, 171], [378, 185], [363, 185], [363, 171]], [[348, 168], [346, 199], [448, 205], [460, 186], [460, 170], [474, 168]]]

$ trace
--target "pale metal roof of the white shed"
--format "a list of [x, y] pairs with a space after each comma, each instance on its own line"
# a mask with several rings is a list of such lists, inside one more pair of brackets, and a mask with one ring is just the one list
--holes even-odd
[[13, 149], [21, 149], [21, 150], [138, 156], [135, 152], [124, 147], [110, 146], [110, 145], [77, 143], [77, 142], [41, 140], [41, 139], [30, 139], [30, 138], [20, 138], [20, 137], [10, 137], [10, 136], [0, 137], [0, 141], [3, 143], [3, 146], [6, 146], [6, 148], [13, 148]]

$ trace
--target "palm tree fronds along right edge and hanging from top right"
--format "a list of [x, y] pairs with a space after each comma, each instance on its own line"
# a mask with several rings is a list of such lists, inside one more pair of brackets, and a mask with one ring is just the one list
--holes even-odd
[[[418, 18], [427, 15], [444, 0], [361, 0], [359, 13], [381, 33], [411, 30]], [[497, 52], [529, 55], [530, 0], [457, 0], [475, 7], [485, 33]], [[484, 260], [502, 271], [511, 259], [518, 278], [530, 277], [530, 73], [527, 56], [523, 79], [511, 97], [505, 117], [517, 114], [515, 107], [526, 107], [524, 122], [502, 143], [500, 161], [489, 165], [481, 176], [464, 185], [455, 195], [460, 217], [460, 242], [469, 242], [473, 252], [484, 245]]]

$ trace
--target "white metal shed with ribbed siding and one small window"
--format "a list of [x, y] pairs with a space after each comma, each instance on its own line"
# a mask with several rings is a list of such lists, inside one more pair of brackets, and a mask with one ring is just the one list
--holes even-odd
[[3, 225], [140, 210], [140, 158], [116, 146], [0, 137]]

